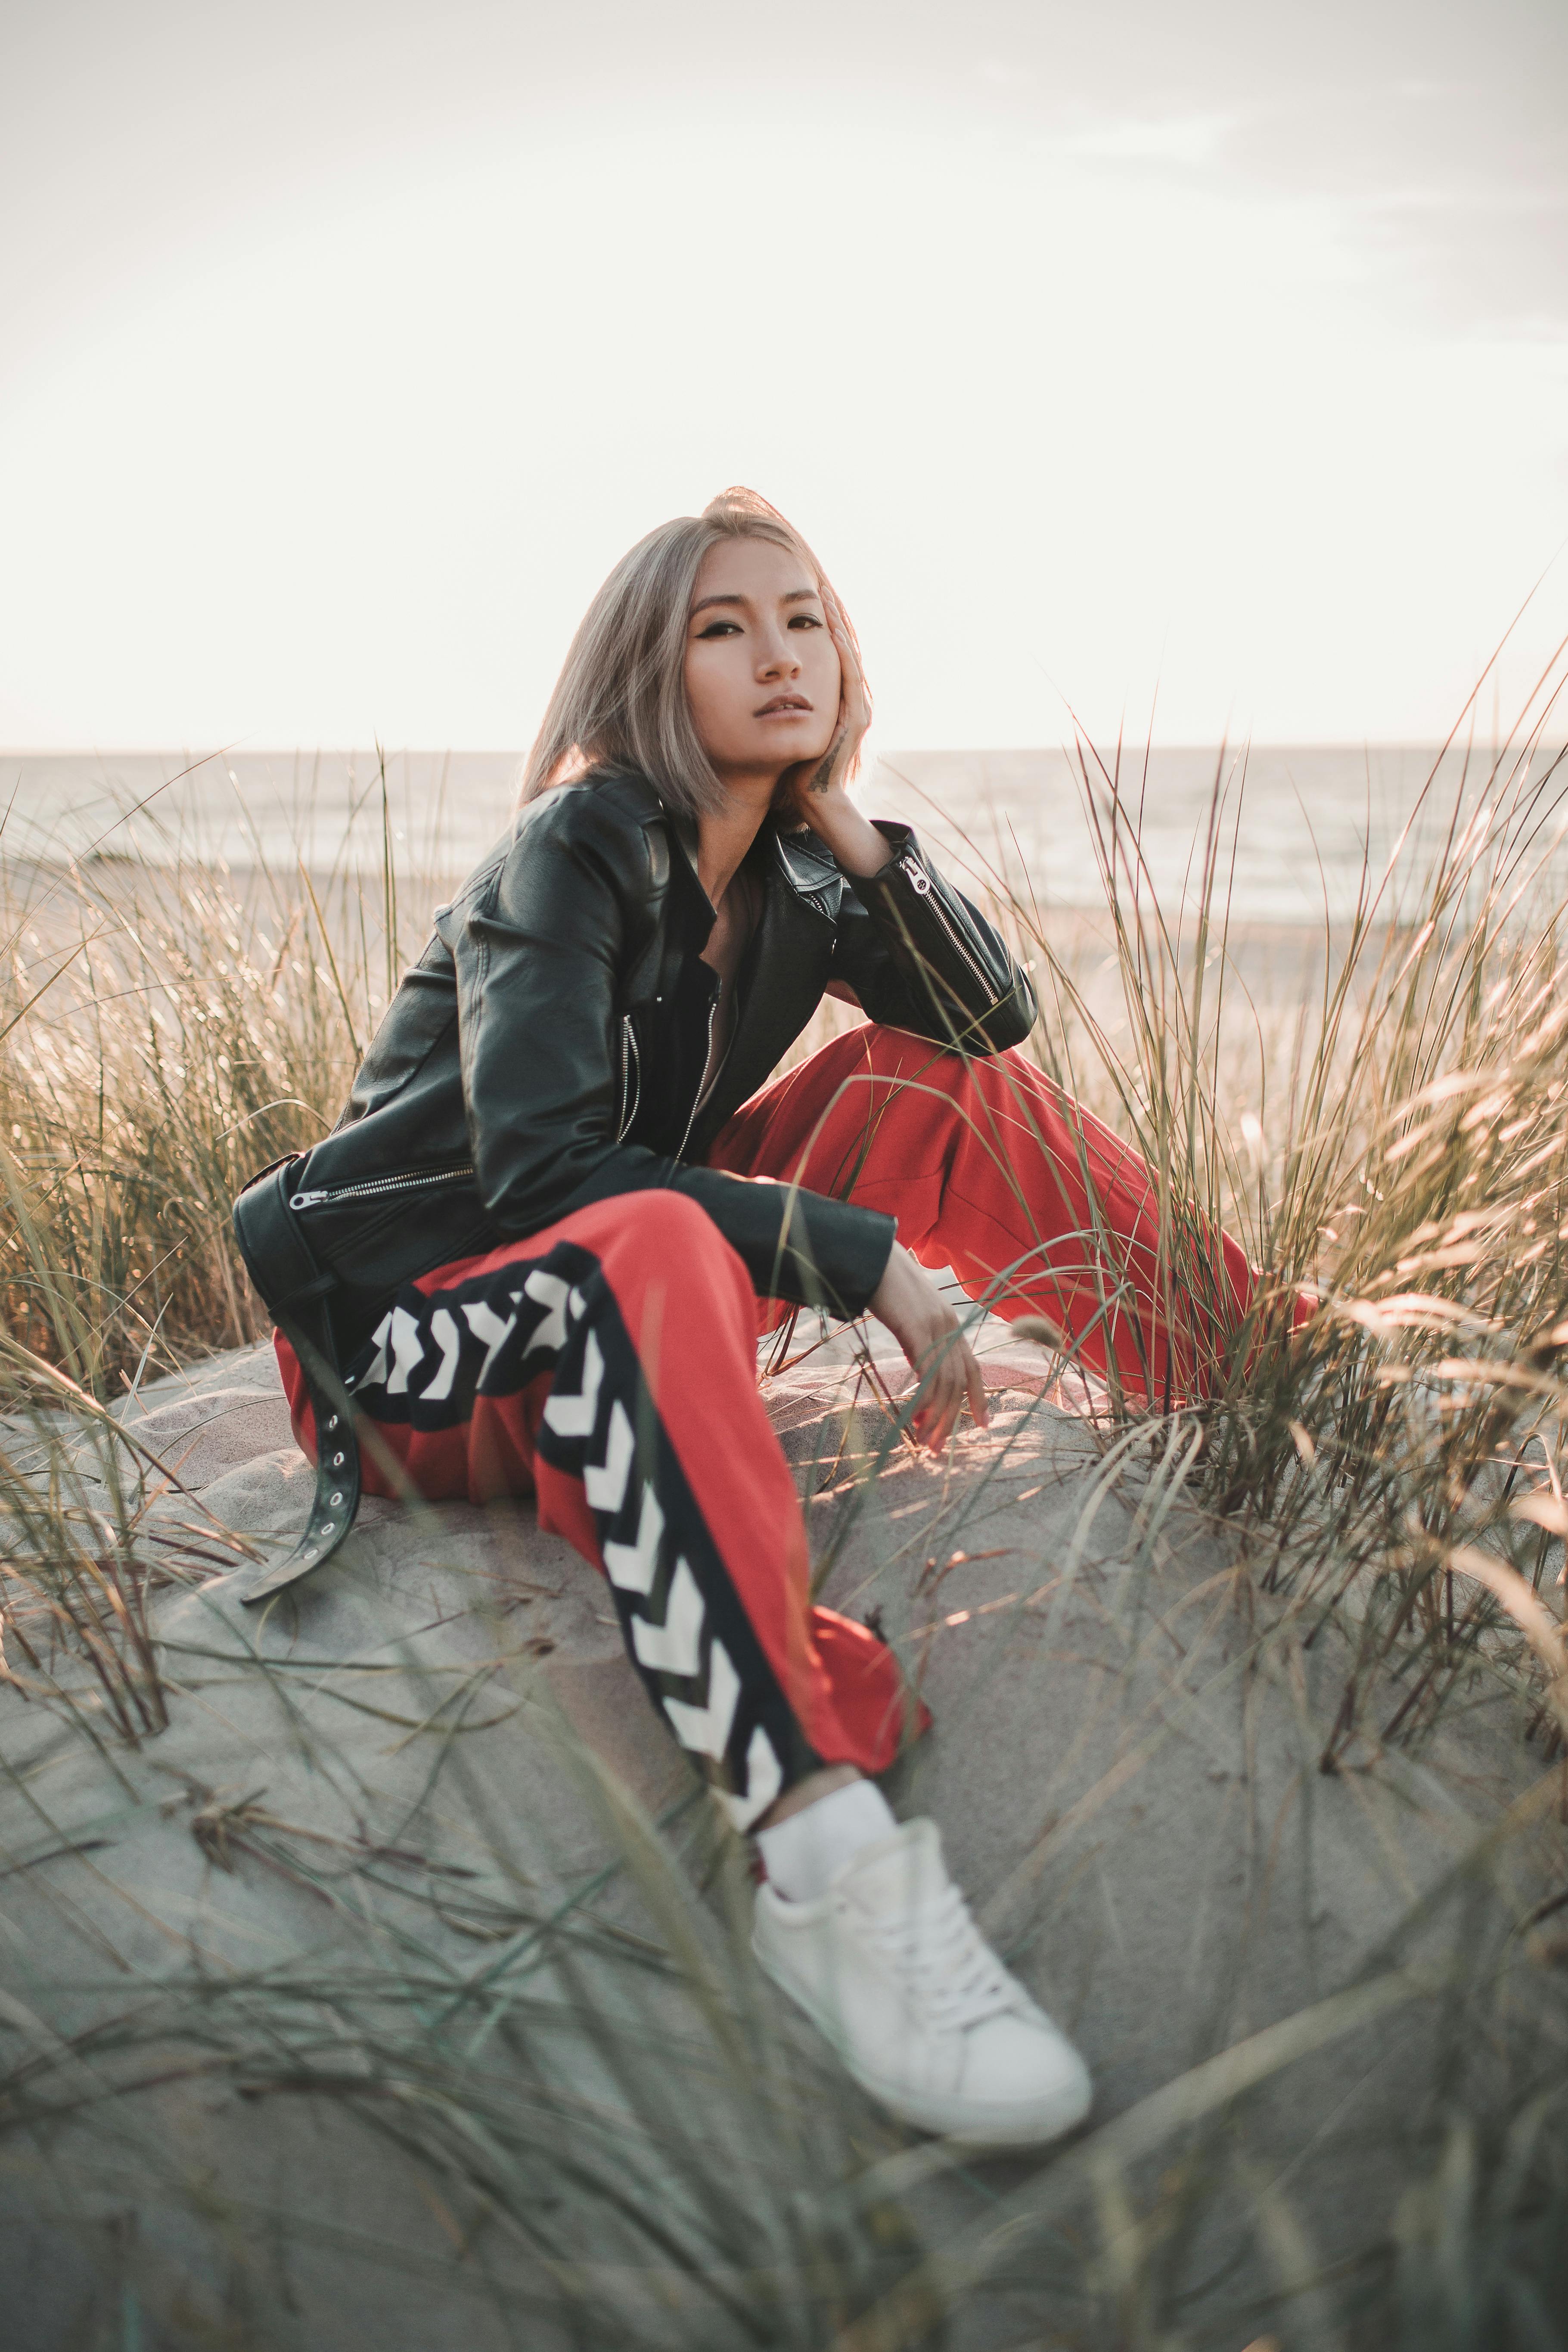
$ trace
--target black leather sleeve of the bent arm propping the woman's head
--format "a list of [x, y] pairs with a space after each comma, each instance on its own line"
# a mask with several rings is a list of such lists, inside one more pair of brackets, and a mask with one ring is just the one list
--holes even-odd
[[1023, 1044], [1037, 1004], [1001, 934], [931, 866], [910, 826], [877, 818], [893, 844], [882, 873], [846, 875], [832, 978], [872, 1021], [964, 1054]]

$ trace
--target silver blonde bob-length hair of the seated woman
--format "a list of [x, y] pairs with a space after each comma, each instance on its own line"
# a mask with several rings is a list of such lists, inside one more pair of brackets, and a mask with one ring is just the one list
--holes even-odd
[[[686, 703], [686, 621], [703, 557], [724, 539], [790, 548], [832, 595], [795, 524], [755, 489], [722, 489], [701, 515], [661, 522], [621, 557], [583, 614], [522, 771], [520, 800], [538, 800], [592, 767], [630, 767], [686, 816], [722, 807], [724, 786]], [[839, 619], [849, 630], [842, 607]]]

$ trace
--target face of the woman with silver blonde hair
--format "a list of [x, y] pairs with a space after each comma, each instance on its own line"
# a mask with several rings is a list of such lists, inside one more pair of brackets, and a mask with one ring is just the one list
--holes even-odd
[[820, 760], [839, 724], [839, 656], [816, 579], [771, 539], [703, 557], [686, 623], [686, 701], [729, 783]]

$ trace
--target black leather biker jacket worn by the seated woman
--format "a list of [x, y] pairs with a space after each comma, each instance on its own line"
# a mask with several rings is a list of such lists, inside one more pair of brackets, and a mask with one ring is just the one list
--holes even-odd
[[715, 915], [696, 826], [635, 774], [592, 774], [524, 807], [437, 908], [343, 1117], [287, 1178], [336, 1277], [341, 1357], [400, 1282], [646, 1185], [701, 1202], [762, 1296], [858, 1315], [893, 1221], [708, 1169], [712, 1136], [832, 981], [872, 1021], [971, 1054], [1018, 1044], [1034, 1023], [1034, 993], [997, 931], [907, 826], [879, 830], [896, 854], [870, 882], [809, 830], [757, 835], [762, 915], [698, 1112], [717, 978], [701, 962]]

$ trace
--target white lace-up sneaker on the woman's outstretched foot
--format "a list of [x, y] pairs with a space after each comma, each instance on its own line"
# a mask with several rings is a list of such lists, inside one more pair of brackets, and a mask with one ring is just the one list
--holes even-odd
[[980, 1936], [933, 1820], [863, 1846], [816, 1903], [764, 1882], [752, 1950], [905, 2124], [1037, 2147], [1088, 2114], [1088, 2067]]

